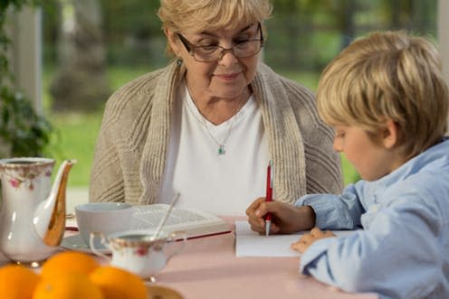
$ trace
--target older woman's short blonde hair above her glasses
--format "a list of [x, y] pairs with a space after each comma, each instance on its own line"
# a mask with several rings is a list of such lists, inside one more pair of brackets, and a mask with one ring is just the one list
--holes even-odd
[[270, 0], [160, 0], [158, 9], [162, 29], [176, 33], [234, 29], [263, 22], [271, 14]]

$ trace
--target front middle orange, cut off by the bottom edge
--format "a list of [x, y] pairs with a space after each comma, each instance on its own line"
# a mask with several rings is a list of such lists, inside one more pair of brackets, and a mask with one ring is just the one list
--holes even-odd
[[43, 277], [34, 290], [33, 299], [103, 299], [97, 285], [89, 276], [65, 272], [58, 276]]

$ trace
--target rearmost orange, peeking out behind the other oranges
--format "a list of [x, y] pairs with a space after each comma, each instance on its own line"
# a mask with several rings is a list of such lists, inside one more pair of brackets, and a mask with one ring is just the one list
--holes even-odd
[[54, 276], [65, 272], [78, 272], [88, 275], [100, 266], [95, 258], [76, 251], [62, 251], [43, 263], [41, 276]]

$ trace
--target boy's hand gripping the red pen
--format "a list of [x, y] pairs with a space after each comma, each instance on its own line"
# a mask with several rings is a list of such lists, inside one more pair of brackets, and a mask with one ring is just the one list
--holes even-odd
[[265, 202], [259, 198], [246, 209], [251, 229], [264, 234], [267, 212], [272, 214], [271, 234], [289, 234], [298, 230], [311, 229], [315, 225], [315, 212], [310, 206], [295, 207], [281, 201]]

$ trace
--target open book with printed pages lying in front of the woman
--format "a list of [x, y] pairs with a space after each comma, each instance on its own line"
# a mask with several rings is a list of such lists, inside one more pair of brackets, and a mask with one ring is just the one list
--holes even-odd
[[[168, 205], [156, 203], [134, 206], [131, 229], [156, 229], [164, 217]], [[186, 231], [187, 238], [200, 238], [231, 232], [227, 222], [213, 214], [195, 209], [173, 208], [164, 225], [169, 232]]]

